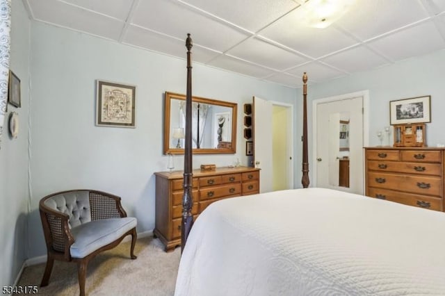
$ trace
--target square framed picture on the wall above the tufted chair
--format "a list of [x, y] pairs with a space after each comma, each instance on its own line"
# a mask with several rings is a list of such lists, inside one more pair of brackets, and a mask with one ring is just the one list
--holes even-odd
[[136, 86], [97, 80], [96, 125], [134, 127]]

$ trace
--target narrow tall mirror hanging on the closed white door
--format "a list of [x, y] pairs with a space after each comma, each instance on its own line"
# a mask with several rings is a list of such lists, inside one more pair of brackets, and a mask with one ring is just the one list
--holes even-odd
[[329, 120], [329, 183], [349, 188], [350, 113], [332, 113]]

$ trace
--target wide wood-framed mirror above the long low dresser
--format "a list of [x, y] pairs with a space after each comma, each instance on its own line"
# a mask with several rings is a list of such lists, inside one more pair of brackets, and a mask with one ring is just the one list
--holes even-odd
[[[192, 97], [193, 154], [236, 152], [237, 104]], [[184, 154], [186, 96], [165, 92], [164, 154]]]

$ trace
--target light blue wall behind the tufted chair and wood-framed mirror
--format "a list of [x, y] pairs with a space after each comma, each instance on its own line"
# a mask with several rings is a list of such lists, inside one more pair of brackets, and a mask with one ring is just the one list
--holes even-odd
[[[168, 163], [162, 154], [163, 93], [186, 92], [186, 61], [33, 22], [31, 78], [29, 256], [45, 254], [38, 201], [58, 190], [113, 192], [138, 218], [139, 232], [154, 229], [153, 173]], [[136, 129], [95, 126], [96, 79], [137, 85]], [[236, 158], [247, 164], [243, 104], [253, 95], [288, 104], [296, 99], [294, 89], [198, 64], [193, 95], [238, 103], [237, 154], [195, 155], [193, 167], [229, 165]], [[175, 156], [175, 169], [183, 163]]]

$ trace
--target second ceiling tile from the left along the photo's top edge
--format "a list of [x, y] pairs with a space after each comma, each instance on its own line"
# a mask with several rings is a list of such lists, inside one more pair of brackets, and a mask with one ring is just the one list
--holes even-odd
[[76, 6], [81, 6], [90, 10], [94, 10], [97, 13], [103, 13], [110, 17], [115, 17], [124, 21], [130, 12], [131, 3], [129, 0], [106, 0], [104, 5], [103, 0], [64, 0], [65, 2], [72, 3]]

